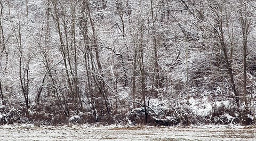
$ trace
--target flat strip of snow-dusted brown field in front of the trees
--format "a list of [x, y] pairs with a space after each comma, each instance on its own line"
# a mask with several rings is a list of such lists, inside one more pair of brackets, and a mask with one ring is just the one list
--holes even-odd
[[256, 140], [256, 127], [0, 126], [0, 140]]

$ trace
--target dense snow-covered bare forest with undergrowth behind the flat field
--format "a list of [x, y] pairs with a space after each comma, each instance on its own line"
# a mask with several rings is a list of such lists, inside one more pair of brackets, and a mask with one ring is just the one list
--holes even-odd
[[0, 124], [255, 123], [255, 1], [0, 4]]

